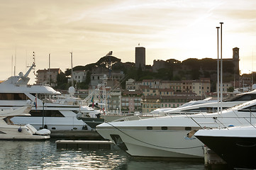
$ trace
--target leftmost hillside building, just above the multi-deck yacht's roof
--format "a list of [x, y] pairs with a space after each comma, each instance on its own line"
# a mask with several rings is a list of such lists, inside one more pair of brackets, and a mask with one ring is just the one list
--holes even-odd
[[36, 72], [35, 83], [40, 85], [49, 84], [50, 86], [56, 86], [57, 75], [61, 72], [61, 69], [38, 69]]

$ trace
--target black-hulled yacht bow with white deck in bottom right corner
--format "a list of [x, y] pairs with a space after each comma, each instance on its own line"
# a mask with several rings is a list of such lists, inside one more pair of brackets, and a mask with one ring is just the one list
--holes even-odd
[[255, 125], [199, 130], [195, 136], [233, 169], [256, 169]]

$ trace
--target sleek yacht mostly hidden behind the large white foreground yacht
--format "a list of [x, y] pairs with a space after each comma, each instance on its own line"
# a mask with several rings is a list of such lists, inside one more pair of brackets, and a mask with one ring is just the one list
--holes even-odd
[[[232, 98], [228, 98], [222, 103], [222, 108], [227, 109], [244, 103], [245, 101], [251, 101], [256, 99], [256, 90], [250, 91], [243, 94], [237, 94]], [[219, 104], [220, 105], [220, 104]], [[81, 119], [84, 123], [87, 123], [91, 128], [95, 129], [96, 125], [99, 125], [104, 122], [116, 122], [116, 121], [126, 121], [126, 120], [139, 120], [145, 118], [154, 118], [164, 115], [182, 115], [182, 114], [196, 114], [196, 113], [214, 113], [218, 109], [218, 101], [212, 100], [212, 98], [205, 98], [204, 100], [199, 101], [189, 101], [184, 103], [184, 105], [179, 106], [178, 108], [158, 108], [155, 111], [150, 113], [135, 114], [135, 115], [126, 115], [126, 114], [111, 114], [106, 113], [101, 115], [89, 115], [84, 113], [79, 113], [77, 119]]]

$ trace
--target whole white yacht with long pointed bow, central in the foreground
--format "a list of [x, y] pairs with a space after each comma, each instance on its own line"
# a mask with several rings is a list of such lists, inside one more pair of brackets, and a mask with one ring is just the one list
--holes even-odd
[[256, 115], [256, 100], [219, 113], [169, 115], [143, 120], [102, 123], [96, 131], [128, 154], [139, 157], [203, 158], [204, 144], [189, 136], [192, 130], [248, 125]]

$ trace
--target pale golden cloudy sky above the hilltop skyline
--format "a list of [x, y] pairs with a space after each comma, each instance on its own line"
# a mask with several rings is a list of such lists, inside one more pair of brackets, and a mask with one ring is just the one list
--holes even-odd
[[[135, 47], [153, 60], [223, 58], [240, 48], [241, 73], [256, 71], [255, 0], [0, 0], [0, 80], [50, 67], [63, 72], [97, 62], [109, 51], [135, 62]], [[14, 66], [16, 69], [14, 69]], [[35, 76], [30, 74], [31, 81]]]

